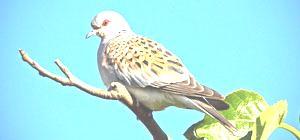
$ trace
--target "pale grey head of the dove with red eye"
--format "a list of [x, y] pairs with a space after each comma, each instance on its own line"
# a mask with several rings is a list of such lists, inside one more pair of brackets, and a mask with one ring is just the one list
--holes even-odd
[[117, 12], [103, 11], [98, 13], [91, 22], [92, 31], [90, 31], [86, 38], [97, 35], [102, 40], [110, 40], [116, 37], [122, 31], [129, 31], [131, 29], [126, 20]]

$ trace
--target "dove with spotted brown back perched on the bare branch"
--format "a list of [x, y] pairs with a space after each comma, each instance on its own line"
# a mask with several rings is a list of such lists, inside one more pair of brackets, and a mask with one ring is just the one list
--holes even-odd
[[136, 34], [116, 11], [98, 13], [86, 38], [101, 38], [98, 69], [104, 84], [123, 84], [139, 104], [151, 111], [169, 106], [204, 112], [234, 134], [236, 127], [219, 110], [229, 104], [217, 91], [200, 84], [181, 59], [161, 43]]

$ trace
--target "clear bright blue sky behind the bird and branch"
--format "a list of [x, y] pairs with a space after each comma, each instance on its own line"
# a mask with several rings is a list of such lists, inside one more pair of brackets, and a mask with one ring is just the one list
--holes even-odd
[[[104, 88], [96, 51], [85, 40], [92, 17], [122, 13], [135, 32], [163, 43], [205, 85], [223, 95], [238, 88], [260, 92], [273, 104], [286, 99], [286, 122], [300, 128], [300, 1], [73, 1], [0, 2], [0, 139], [151, 139], [124, 105], [42, 78], [18, 49], [61, 74], [60, 58], [87, 83]], [[154, 114], [174, 140], [202, 119], [196, 111], [168, 108]], [[294, 139], [276, 130], [271, 139]]]

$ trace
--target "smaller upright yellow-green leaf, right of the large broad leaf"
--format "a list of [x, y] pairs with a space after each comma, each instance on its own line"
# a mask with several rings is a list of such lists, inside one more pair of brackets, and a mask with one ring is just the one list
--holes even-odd
[[266, 140], [278, 128], [287, 114], [287, 101], [279, 101], [256, 119], [251, 140]]

